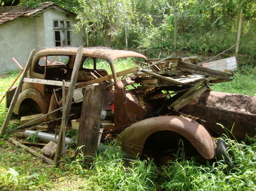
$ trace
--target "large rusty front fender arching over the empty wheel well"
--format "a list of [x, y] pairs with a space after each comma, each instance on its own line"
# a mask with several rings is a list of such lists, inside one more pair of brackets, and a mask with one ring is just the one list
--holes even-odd
[[166, 130], [185, 137], [202, 157], [214, 157], [214, 145], [209, 132], [196, 121], [180, 116], [159, 116], [133, 123], [119, 134], [118, 141], [127, 153], [141, 155], [149, 135]]

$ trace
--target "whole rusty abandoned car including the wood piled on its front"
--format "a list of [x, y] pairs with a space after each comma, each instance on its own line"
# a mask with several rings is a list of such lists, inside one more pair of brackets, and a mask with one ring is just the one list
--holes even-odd
[[[78, 48], [37, 52], [13, 112], [26, 116], [60, 108], [62, 80], [69, 88], [77, 52]], [[122, 68], [116, 65], [117, 59], [124, 58], [134, 62], [134, 67], [116, 72], [117, 67]], [[255, 97], [210, 91], [211, 84], [228, 80], [232, 73], [199, 66], [194, 57], [147, 60], [132, 51], [83, 48], [70, 112], [76, 115], [69, 121], [78, 119], [79, 123], [83, 91], [95, 83], [103, 84], [102, 140], [114, 137], [126, 153], [152, 158], [171, 156], [182, 140], [187, 155], [211, 159], [216, 149], [212, 136], [224, 132], [216, 123], [233, 128], [238, 139], [255, 135]], [[96, 99], [92, 97], [90, 102]], [[46, 120], [61, 117], [58, 111]], [[57, 126], [51, 126], [51, 132]]]

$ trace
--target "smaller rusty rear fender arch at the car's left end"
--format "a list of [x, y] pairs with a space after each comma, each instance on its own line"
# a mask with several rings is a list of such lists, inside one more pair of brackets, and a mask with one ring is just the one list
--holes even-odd
[[27, 99], [31, 99], [35, 101], [40, 109], [40, 112], [43, 112], [44, 114], [48, 112], [48, 108], [49, 108], [48, 100], [37, 89], [29, 88], [29, 89], [25, 89], [19, 94], [19, 97], [13, 109], [13, 112], [15, 114], [19, 115], [19, 108], [21, 107], [22, 102], [24, 102]]

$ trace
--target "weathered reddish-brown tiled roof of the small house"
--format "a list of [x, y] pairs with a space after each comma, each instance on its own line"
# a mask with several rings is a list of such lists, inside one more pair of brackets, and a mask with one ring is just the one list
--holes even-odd
[[64, 10], [51, 1], [40, 3], [40, 6], [37, 8], [28, 8], [26, 6], [0, 6], [0, 25], [19, 17], [35, 16], [52, 7]]

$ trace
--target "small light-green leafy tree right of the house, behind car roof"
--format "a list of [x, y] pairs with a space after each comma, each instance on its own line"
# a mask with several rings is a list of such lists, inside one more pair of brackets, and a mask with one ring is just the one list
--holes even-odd
[[76, 11], [78, 24], [85, 33], [100, 33], [106, 47], [110, 47], [114, 33], [123, 29], [133, 17], [133, 5], [129, 0], [79, 0]]

